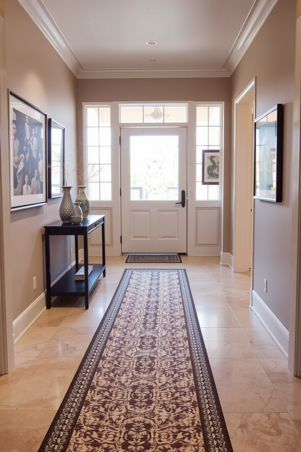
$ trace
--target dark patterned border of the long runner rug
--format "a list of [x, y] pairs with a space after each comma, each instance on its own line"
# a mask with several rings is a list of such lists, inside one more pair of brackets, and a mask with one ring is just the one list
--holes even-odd
[[64, 452], [81, 408], [93, 380], [103, 350], [113, 328], [116, 316], [124, 298], [128, 283], [134, 271], [177, 272], [182, 296], [186, 331], [190, 348], [194, 385], [199, 405], [206, 452], [232, 452], [230, 438], [222, 414], [218, 393], [210, 368], [204, 339], [197, 320], [192, 294], [184, 268], [128, 268], [125, 269], [111, 303], [83, 356], [68, 391], [53, 419], [38, 452]]

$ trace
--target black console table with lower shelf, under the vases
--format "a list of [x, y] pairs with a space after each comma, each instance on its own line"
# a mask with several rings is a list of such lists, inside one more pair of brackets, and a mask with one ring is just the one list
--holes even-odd
[[[88, 234], [98, 226], [102, 226], [102, 264], [93, 264], [93, 270], [88, 275]], [[51, 308], [51, 297], [58, 295], [79, 295], [85, 297], [85, 308], [89, 309], [89, 293], [95, 286], [97, 279], [103, 273], [106, 276], [106, 250], [105, 250], [105, 215], [89, 215], [83, 218], [79, 225], [56, 221], [45, 228], [45, 258], [46, 258], [46, 308]], [[75, 265], [68, 270], [52, 287], [50, 274], [50, 235], [75, 236]], [[79, 264], [78, 236], [83, 235], [83, 262]], [[85, 278], [75, 281], [75, 273], [79, 268], [85, 268]]]

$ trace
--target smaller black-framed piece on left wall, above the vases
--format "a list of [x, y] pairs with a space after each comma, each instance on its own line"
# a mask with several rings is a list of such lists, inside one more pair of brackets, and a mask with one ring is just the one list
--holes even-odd
[[63, 196], [65, 164], [65, 127], [48, 119], [48, 198]]

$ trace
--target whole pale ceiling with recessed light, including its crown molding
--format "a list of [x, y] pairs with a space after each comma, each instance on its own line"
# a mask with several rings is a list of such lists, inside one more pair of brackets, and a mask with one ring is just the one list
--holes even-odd
[[278, 0], [18, 1], [78, 78], [150, 78], [228, 77]]

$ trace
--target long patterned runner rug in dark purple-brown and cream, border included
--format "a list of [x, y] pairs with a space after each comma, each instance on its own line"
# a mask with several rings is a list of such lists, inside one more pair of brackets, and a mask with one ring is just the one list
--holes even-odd
[[125, 270], [42, 451], [232, 452], [185, 270]]

